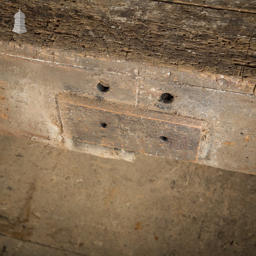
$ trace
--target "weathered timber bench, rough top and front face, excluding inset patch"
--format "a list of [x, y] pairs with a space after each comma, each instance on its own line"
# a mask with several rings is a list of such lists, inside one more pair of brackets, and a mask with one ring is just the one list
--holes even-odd
[[[21, 35], [12, 32], [19, 4], [28, 31]], [[61, 95], [78, 106], [99, 102], [120, 113], [200, 121], [197, 163], [256, 173], [253, 9], [106, 0], [0, 1], [0, 8], [2, 133], [133, 161], [135, 148], [66, 136]], [[100, 81], [109, 92], [97, 90]], [[160, 102], [163, 93], [173, 102]]]

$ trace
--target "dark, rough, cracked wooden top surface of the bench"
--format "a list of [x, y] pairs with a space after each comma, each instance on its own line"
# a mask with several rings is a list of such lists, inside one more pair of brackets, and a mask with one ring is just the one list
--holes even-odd
[[25, 1], [28, 33], [18, 35], [11, 32], [18, 3], [0, 1], [3, 53], [34, 46], [30, 57], [42, 49], [44, 58], [64, 51], [76, 59], [75, 52], [224, 74], [255, 86], [254, 14], [155, 1]]

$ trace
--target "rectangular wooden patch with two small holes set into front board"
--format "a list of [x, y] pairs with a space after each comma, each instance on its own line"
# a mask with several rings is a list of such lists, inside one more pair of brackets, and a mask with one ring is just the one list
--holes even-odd
[[58, 95], [64, 135], [73, 140], [196, 162], [202, 120], [105, 100]]

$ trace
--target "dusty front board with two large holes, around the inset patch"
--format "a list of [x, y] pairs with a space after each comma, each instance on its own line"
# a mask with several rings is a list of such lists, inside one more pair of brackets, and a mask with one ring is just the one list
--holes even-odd
[[[81, 99], [80, 103], [89, 98], [89, 102], [99, 105], [108, 102], [119, 109], [135, 109], [143, 113], [154, 111], [158, 113], [159, 120], [163, 119], [162, 114], [172, 119], [175, 116], [177, 119], [182, 118], [183, 124], [186, 117], [205, 120], [197, 163], [256, 173], [255, 95], [190, 86], [174, 81], [172, 76], [167, 77], [168, 68], [161, 72], [155, 72], [155, 67], [152, 70], [145, 68], [141, 70], [144, 76], [137, 76], [135, 72], [133, 74], [134, 66], [128, 72], [126, 63], [122, 62], [115, 66], [112, 62], [101, 61], [100, 65], [96, 59], [90, 59], [88, 65], [87, 68], [77, 68], [66, 64], [0, 56], [0, 80], [8, 84], [1, 95], [7, 99], [5, 103], [9, 110], [8, 119], [0, 121], [0, 132], [27, 136], [69, 150], [97, 151], [100, 155], [103, 148], [101, 153], [93, 147], [88, 151], [85, 142], [65, 139], [63, 136], [63, 129], [67, 128], [60, 120], [56, 95], [64, 93]], [[99, 72], [99, 69], [104, 72]], [[127, 74], [121, 73], [125, 69]], [[105, 94], [99, 92], [96, 89], [99, 80], [105, 80], [111, 86], [111, 91]], [[135, 85], [136, 91], [133, 94]], [[171, 104], [159, 102], [162, 93], [174, 95], [174, 101]], [[105, 156], [118, 153], [119, 158], [124, 157], [121, 150], [110, 149], [112, 152]]]

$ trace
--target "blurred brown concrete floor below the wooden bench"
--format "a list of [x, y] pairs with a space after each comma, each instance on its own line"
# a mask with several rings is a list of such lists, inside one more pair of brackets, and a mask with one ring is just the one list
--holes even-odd
[[256, 176], [0, 140], [0, 255], [256, 255]]

